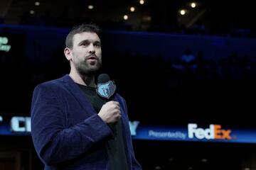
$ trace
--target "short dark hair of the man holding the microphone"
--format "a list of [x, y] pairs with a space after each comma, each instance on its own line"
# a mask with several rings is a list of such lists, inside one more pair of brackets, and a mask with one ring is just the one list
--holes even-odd
[[74, 35], [84, 32], [96, 33], [100, 37], [102, 30], [95, 23], [82, 23], [80, 26], [75, 26], [70, 30], [70, 33], [68, 33], [65, 39], [65, 46], [68, 48], [73, 48]]

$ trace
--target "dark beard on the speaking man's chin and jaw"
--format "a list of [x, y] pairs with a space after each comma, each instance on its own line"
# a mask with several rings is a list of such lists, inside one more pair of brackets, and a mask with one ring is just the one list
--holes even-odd
[[94, 75], [101, 67], [102, 62], [100, 60], [97, 60], [97, 63], [95, 65], [90, 65], [87, 62], [84, 62], [82, 64], [79, 64], [76, 69], [78, 70], [78, 73], [83, 76], [88, 75]]

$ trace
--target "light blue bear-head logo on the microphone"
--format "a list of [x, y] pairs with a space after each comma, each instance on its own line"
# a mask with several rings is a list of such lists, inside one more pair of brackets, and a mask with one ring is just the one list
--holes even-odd
[[113, 81], [107, 81], [107, 83], [104, 84], [97, 84], [97, 94], [103, 98], [110, 98], [114, 94], [115, 90], [116, 86]]

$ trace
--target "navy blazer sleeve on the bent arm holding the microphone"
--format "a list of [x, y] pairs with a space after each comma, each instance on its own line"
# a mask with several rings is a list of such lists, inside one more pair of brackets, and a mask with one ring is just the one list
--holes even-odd
[[72, 127], [65, 127], [63, 104], [49, 86], [37, 86], [31, 103], [31, 135], [36, 152], [47, 165], [74, 159], [112, 135], [106, 123], [92, 115]]

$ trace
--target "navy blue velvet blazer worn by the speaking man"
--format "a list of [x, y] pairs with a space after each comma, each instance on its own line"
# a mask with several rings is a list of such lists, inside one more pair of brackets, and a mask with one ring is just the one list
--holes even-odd
[[[142, 169], [134, 157], [124, 98], [116, 94], [114, 101], [121, 106], [129, 169]], [[112, 130], [68, 74], [34, 89], [31, 135], [45, 170], [109, 170], [106, 145]]]

